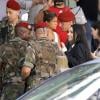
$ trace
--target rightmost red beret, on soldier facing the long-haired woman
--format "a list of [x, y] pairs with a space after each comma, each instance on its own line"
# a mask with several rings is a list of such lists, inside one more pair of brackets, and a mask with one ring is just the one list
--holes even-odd
[[58, 16], [58, 19], [60, 22], [69, 22], [75, 19], [75, 15], [70, 10], [68, 10], [66, 12], [61, 13]]

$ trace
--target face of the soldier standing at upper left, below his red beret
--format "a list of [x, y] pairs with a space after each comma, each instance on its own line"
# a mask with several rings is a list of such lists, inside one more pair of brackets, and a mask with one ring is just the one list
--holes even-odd
[[9, 22], [14, 22], [16, 19], [18, 19], [20, 11], [16, 11], [16, 10], [7, 8], [6, 13], [7, 13]]

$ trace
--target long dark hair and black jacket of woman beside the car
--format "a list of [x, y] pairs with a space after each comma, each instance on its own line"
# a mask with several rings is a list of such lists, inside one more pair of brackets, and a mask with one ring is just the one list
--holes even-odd
[[83, 25], [75, 24], [73, 27], [74, 45], [66, 52], [69, 66], [73, 67], [89, 60], [92, 60], [90, 49], [87, 44]]

